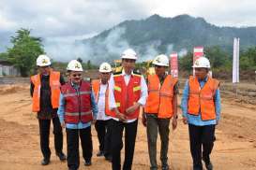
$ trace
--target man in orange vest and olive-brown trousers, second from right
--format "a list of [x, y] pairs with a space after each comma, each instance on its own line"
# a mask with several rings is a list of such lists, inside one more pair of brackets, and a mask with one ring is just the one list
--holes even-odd
[[143, 125], [146, 126], [150, 169], [157, 170], [157, 139], [161, 140], [161, 169], [168, 170], [169, 124], [173, 118], [173, 130], [177, 126], [177, 78], [167, 74], [169, 60], [166, 55], [158, 55], [154, 60], [156, 75], [147, 78], [148, 97], [144, 106]]

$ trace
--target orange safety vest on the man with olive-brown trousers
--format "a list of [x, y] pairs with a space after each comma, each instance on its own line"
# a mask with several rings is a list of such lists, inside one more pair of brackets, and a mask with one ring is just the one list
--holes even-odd
[[145, 113], [156, 114], [158, 118], [173, 117], [173, 88], [178, 79], [167, 75], [160, 85], [158, 75], [148, 76], [148, 97]]

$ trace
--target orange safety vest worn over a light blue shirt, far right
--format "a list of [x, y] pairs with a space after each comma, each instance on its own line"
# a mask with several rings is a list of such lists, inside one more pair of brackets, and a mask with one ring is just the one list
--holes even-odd
[[219, 81], [208, 77], [207, 82], [201, 89], [198, 79], [190, 76], [188, 86], [188, 114], [198, 116], [201, 112], [202, 120], [215, 120], [214, 96], [218, 90]]

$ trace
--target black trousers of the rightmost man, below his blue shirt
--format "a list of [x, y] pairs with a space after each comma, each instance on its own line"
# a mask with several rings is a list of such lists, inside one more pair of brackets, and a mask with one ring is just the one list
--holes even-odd
[[215, 141], [215, 125], [195, 126], [188, 124], [188, 131], [193, 169], [202, 170], [202, 147], [203, 160], [205, 160], [206, 163], [209, 163], [210, 154]]

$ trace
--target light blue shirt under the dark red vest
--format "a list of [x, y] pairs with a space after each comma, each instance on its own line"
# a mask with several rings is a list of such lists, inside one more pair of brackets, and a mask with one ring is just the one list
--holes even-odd
[[[78, 86], [74, 86], [74, 88], [77, 89]], [[92, 110], [93, 110], [93, 117], [94, 117], [94, 120], [96, 120], [97, 114], [98, 114], [98, 106], [95, 101], [94, 92], [91, 92], [91, 104], [92, 104]], [[66, 106], [66, 102], [65, 102], [64, 94], [61, 93], [59, 108], [57, 112], [61, 123], [64, 122], [65, 106]], [[68, 129], [84, 129], [89, 126], [91, 126], [91, 122], [83, 123], [82, 121], [80, 121], [77, 124], [66, 123], [66, 128]]]

